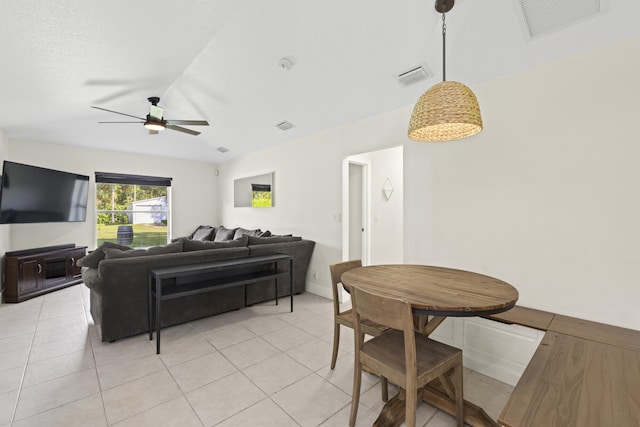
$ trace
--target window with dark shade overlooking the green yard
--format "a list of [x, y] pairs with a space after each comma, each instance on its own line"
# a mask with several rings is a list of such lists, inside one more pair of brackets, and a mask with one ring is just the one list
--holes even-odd
[[169, 242], [171, 178], [96, 172], [97, 246]]

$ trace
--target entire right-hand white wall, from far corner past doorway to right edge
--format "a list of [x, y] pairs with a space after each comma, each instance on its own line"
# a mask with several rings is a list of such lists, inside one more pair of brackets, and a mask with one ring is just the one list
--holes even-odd
[[[221, 168], [228, 225], [317, 242], [308, 289], [341, 259], [341, 165], [404, 147], [404, 261], [498, 277], [519, 303], [640, 329], [640, 38], [474, 87], [485, 130], [408, 142], [411, 106]], [[276, 171], [276, 207], [233, 209], [233, 179]]]

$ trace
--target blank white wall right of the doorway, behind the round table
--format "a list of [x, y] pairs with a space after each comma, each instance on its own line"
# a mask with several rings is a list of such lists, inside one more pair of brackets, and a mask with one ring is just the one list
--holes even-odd
[[639, 73], [636, 37], [478, 87], [476, 137], [407, 144], [406, 261], [640, 329]]

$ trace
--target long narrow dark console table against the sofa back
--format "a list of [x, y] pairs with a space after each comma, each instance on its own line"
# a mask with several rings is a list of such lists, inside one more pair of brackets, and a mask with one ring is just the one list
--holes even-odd
[[[289, 270], [278, 269], [279, 261], [289, 261]], [[268, 266], [269, 264], [272, 264], [273, 268], [247, 271], [247, 267]], [[160, 311], [162, 301], [276, 279], [276, 304], [278, 304], [277, 279], [283, 276], [289, 276], [289, 283], [291, 284], [289, 297], [291, 299], [291, 311], [293, 312], [293, 257], [291, 255], [257, 255], [149, 269], [149, 339], [153, 339], [151, 324], [153, 302], [155, 301], [156, 353], [160, 354]], [[163, 280], [172, 283], [168, 286], [163, 286]]]

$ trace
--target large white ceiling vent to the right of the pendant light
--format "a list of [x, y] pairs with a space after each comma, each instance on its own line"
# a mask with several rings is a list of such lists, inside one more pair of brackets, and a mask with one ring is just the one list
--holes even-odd
[[607, 0], [514, 0], [527, 38], [584, 21], [604, 11]]

